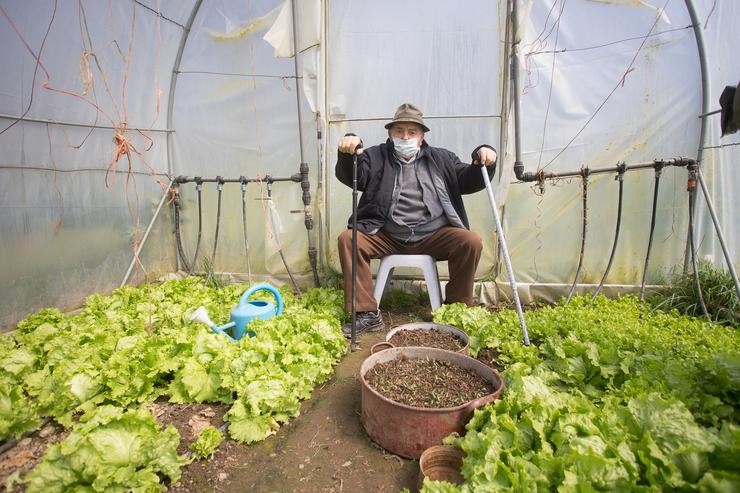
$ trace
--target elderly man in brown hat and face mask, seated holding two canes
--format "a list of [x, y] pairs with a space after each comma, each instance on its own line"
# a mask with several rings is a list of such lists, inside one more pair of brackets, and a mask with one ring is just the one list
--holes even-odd
[[[485, 188], [481, 166], [489, 178], [496, 165], [496, 150], [475, 148], [473, 164], [464, 164], [452, 152], [432, 147], [424, 140], [429, 132], [422, 112], [414, 105], [398, 107], [385, 125], [388, 140], [361, 146], [354, 134], [339, 140], [335, 174], [352, 186], [352, 160], [357, 154], [356, 332], [385, 327], [373, 297], [370, 259], [391, 254], [426, 254], [447, 260], [450, 278], [445, 302], [473, 302], [475, 270], [483, 248], [481, 238], [470, 231], [462, 195]], [[339, 260], [344, 275], [344, 306], [352, 309], [352, 218], [350, 229], [339, 235]], [[342, 327], [350, 336], [350, 324]]]

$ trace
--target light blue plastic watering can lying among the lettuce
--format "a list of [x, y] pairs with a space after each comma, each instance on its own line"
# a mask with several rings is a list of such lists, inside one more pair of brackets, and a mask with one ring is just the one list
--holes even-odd
[[[269, 301], [255, 300], [248, 301], [249, 297], [257, 291], [269, 291], [275, 297], [277, 301], [277, 307]], [[254, 337], [254, 332], [247, 331], [247, 325], [255, 318], [261, 318], [267, 320], [275, 315], [283, 313], [283, 298], [280, 296], [278, 290], [270, 284], [255, 284], [251, 288], [247, 289], [242, 297], [239, 299], [239, 304], [231, 309], [231, 321], [224, 325], [214, 324], [208, 312], [204, 306], [199, 307], [190, 316], [190, 320], [196, 320], [208, 325], [214, 332], [223, 334], [232, 341], [238, 341], [244, 337], [244, 332], [249, 333], [249, 337]], [[232, 337], [227, 329], [232, 329], [234, 336]]]

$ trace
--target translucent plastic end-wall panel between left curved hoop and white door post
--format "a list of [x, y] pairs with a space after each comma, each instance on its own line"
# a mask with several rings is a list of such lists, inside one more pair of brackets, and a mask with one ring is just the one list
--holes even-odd
[[[303, 69], [314, 67], [318, 59], [320, 5], [318, 1], [298, 2], [297, 9], [301, 53], [298, 70], [305, 81], [299, 89], [305, 85], [310, 94], [315, 94], [311, 81], [316, 77], [309, 74], [304, 78]], [[301, 134], [290, 7], [290, 2], [277, 0], [214, 1], [200, 7], [183, 52], [174, 100], [175, 175], [266, 179], [299, 173]], [[311, 206], [316, 207], [317, 123], [303, 92], [300, 101], [303, 159], [310, 169]], [[180, 193], [183, 249], [192, 263], [198, 230], [195, 184], [182, 185]], [[203, 185], [202, 240], [196, 270], [203, 270], [204, 258], [214, 258], [216, 271], [251, 272], [263, 279], [286, 282], [282, 250], [291, 273], [313, 282], [299, 183], [275, 182], [271, 190], [265, 182], [246, 186], [246, 244], [240, 184], [225, 184], [221, 200], [219, 215], [217, 185]], [[214, 256], [217, 226], [218, 249]], [[310, 234], [315, 236], [317, 230], [315, 227]]]

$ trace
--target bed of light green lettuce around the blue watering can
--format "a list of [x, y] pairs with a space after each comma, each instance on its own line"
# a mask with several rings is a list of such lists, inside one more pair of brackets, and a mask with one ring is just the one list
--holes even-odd
[[[144, 409], [156, 399], [230, 404], [229, 435], [247, 443], [296, 416], [347, 351], [342, 294], [317, 288], [295, 297], [284, 289], [283, 314], [253, 321], [255, 337], [237, 342], [190, 321], [204, 305], [225, 323], [245, 289], [195, 277], [127, 286], [89, 296], [79, 313], [41, 310], [0, 337], [0, 440], [46, 419], [72, 429], [28, 476], [29, 491], [44, 484], [52, 486], [43, 491], [149, 491], [161, 475], [175, 481], [185, 462], [162, 447], [176, 448], [179, 436], [159, 430]], [[209, 432], [198, 450], [214, 438]], [[144, 449], [169, 459], [160, 464]]]

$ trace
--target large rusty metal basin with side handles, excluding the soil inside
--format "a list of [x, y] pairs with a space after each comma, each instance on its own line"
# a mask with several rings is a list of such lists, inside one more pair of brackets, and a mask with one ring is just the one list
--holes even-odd
[[[488, 395], [449, 408], [421, 408], [395, 402], [368, 385], [365, 375], [375, 365], [395, 359], [434, 359], [473, 371], [496, 390]], [[463, 434], [475, 409], [495, 401], [504, 389], [499, 373], [475, 358], [445, 349], [394, 347], [370, 355], [360, 367], [362, 383], [361, 422], [368, 436], [385, 450], [418, 459], [427, 448], [441, 445], [450, 433]]]

